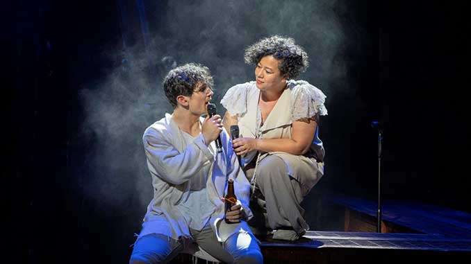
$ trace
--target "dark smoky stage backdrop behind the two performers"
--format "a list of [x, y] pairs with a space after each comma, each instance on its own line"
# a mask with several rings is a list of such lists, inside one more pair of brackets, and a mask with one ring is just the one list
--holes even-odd
[[[218, 103], [253, 79], [243, 49], [294, 37], [327, 95], [313, 191], [471, 212], [465, 1], [17, 1], [6, 16], [9, 263], [126, 263], [151, 178], [144, 129], [169, 69], [208, 66]], [[10, 10], [8, 8], [8, 10]], [[10, 37], [11, 36], [11, 37]], [[306, 201], [315, 214], [313, 195]], [[315, 225], [313, 226], [315, 229]]]

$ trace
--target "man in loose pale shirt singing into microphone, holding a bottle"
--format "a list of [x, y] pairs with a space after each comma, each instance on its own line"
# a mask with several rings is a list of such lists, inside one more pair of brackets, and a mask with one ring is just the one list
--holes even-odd
[[[144, 132], [144, 150], [154, 186], [130, 263], [167, 263], [196, 243], [226, 263], [263, 263], [247, 222], [249, 182], [238, 166], [219, 115], [207, 114], [213, 78], [199, 64], [172, 69], [163, 82], [174, 107]], [[222, 152], [215, 151], [220, 137]], [[224, 219], [224, 190], [233, 179], [238, 204]]]

